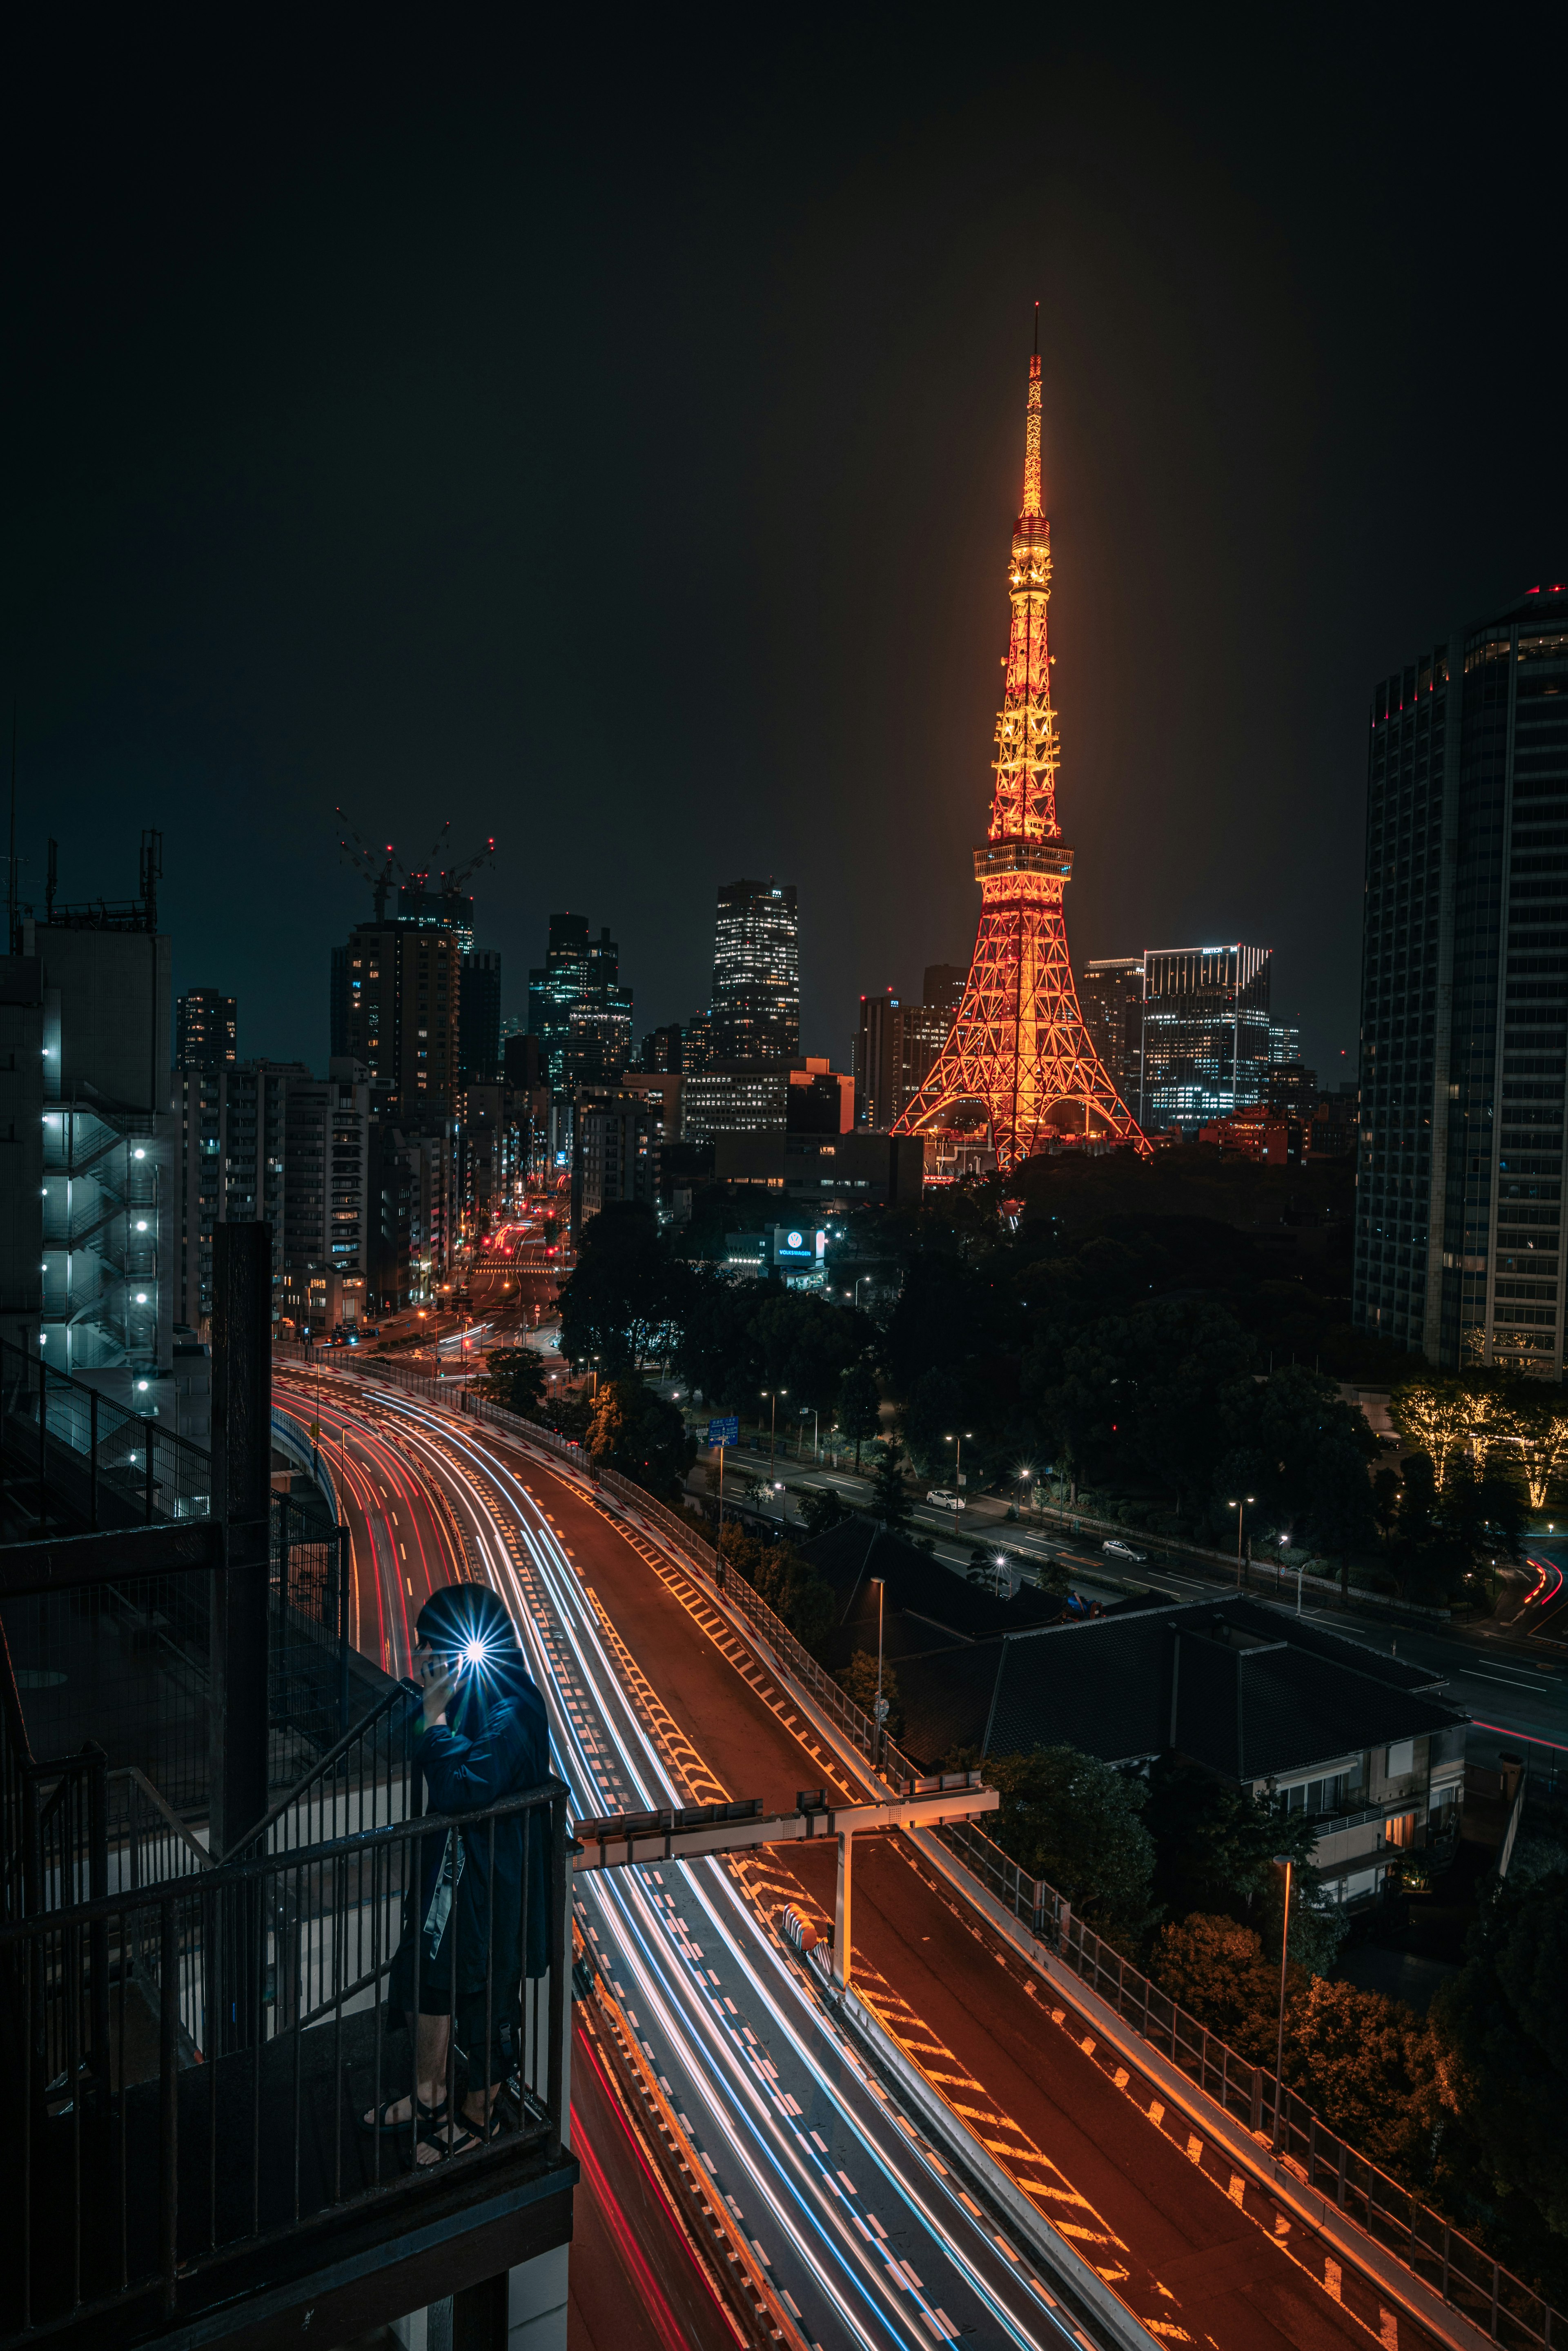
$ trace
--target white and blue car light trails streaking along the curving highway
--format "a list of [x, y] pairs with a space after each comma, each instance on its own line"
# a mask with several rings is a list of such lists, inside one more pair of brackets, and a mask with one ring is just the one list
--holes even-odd
[[[360, 1444], [367, 1401], [355, 1392], [348, 1411], [334, 1406]], [[376, 1460], [388, 1458], [400, 1491], [411, 1465], [440, 1486], [470, 1573], [484, 1573], [515, 1613], [578, 1817], [686, 1801], [520, 1474], [411, 1399], [381, 1392], [374, 1404], [397, 1415], [395, 1441], [374, 1434]], [[355, 1500], [364, 1507], [362, 1493]], [[741, 2219], [806, 2335], [865, 2351], [961, 2335], [1020, 2346], [1079, 2339], [1027, 2264], [959, 2201], [945, 2165], [886, 2111], [882, 2088], [731, 1871], [717, 1860], [682, 1864], [677, 1900], [665, 1869], [585, 1881], [576, 1914], [675, 2104], [701, 2116], [689, 2128], [712, 2193]]]

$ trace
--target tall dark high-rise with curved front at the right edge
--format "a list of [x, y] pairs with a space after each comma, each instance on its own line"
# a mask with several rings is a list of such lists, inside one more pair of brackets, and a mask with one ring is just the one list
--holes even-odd
[[1568, 585], [1373, 696], [1352, 1314], [1561, 1378]]

